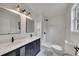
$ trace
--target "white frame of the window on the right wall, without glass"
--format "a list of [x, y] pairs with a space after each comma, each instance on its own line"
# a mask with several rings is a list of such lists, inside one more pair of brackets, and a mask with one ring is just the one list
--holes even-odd
[[[71, 8], [71, 32], [79, 32], [79, 29], [77, 29], [78, 24], [77, 20], [79, 20], [79, 18], [77, 18], [77, 6], [79, 4], [74, 4], [73, 7]], [[79, 8], [79, 7], [78, 7]]]

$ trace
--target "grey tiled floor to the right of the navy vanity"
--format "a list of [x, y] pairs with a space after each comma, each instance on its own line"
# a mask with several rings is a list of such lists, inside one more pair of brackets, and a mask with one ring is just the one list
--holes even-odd
[[[57, 52], [57, 51], [56, 51]], [[72, 56], [68, 53], [55, 53], [54, 50], [49, 49], [47, 47], [42, 46], [40, 52], [37, 54], [37, 56]]]

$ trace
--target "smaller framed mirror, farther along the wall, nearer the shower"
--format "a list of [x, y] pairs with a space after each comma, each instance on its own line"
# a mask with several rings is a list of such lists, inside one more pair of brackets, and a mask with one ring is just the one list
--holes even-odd
[[26, 19], [26, 33], [34, 32], [34, 20]]

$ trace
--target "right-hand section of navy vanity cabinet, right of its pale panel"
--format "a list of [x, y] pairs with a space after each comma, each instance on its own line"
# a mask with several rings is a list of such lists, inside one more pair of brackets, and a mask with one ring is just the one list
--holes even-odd
[[35, 56], [40, 51], [40, 39], [33, 41], [25, 47], [26, 56]]

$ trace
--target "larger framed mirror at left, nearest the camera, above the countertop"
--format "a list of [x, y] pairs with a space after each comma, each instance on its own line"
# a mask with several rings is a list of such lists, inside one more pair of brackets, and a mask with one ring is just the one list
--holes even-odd
[[0, 7], [0, 35], [21, 32], [19, 15]]

